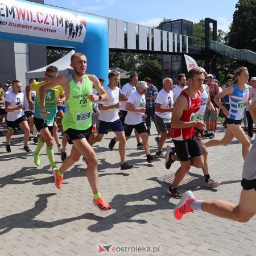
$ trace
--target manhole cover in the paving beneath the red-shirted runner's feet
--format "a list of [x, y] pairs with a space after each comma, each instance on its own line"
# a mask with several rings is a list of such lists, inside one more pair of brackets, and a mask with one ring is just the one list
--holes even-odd
[[[175, 174], [168, 175], [168, 177], [164, 178], [164, 183], [167, 185], [171, 185], [174, 181]], [[181, 190], [197, 190], [201, 187], [205, 188], [205, 180], [203, 175], [193, 174], [192, 172], [188, 172], [185, 175], [184, 179], [181, 181], [179, 188]]]

